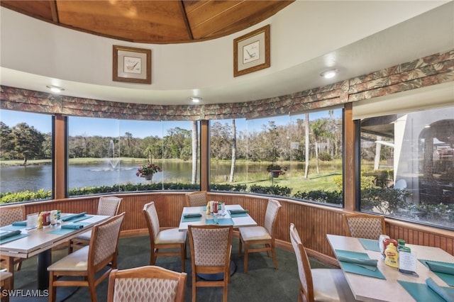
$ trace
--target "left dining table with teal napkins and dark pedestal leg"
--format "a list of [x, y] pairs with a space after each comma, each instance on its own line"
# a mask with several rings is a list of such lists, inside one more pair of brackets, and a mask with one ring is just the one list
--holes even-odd
[[[0, 255], [10, 257], [10, 262], [16, 257], [27, 259], [38, 255], [38, 289], [46, 290], [49, 288], [48, 267], [52, 264], [52, 247], [67, 243], [109, 217], [85, 212], [62, 213], [60, 222], [43, 228], [26, 225], [26, 221], [5, 225], [0, 228]], [[13, 271], [11, 269], [11, 273]]]

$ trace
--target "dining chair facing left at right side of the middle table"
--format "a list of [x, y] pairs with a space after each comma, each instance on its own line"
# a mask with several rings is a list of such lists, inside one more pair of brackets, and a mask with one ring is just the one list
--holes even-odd
[[[267, 204], [267, 210], [265, 212], [265, 225], [263, 226], [253, 226], [239, 228], [240, 231], [240, 245], [239, 255], [243, 251], [244, 244], [244, 273], [248, 273], [248, 255], [251, 252], [267, 252], [268, 257], [270, 257], [270, 252], [272, 253], [272, 261], [275, 264], [275, 269], [277, 267], [276, 259], [276, 248], [275, 248], [275, 222], [277, 214], [281, 208], [279, 201], [270, 198]], [[253, 247], [260, 245], [260, 247]]]

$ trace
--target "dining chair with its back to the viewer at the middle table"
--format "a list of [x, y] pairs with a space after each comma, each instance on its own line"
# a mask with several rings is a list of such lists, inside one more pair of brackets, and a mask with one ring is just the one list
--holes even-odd
[[[188, 225], [192, 264], [192, 302], [197, 287], [223, 287], [223, 302], [227, 302], [230, 283], [232, 225]], [[223, 274], [222, 280], [206, 281], [197, 274]]]

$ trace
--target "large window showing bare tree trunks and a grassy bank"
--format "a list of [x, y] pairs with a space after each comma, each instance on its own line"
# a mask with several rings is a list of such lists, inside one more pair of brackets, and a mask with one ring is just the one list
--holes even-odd
[[211, 121], [211, 189], [343, 203], [342, 109]]

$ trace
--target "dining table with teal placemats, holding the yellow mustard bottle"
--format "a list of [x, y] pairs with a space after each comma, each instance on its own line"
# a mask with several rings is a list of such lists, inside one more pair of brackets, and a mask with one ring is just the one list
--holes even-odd
[[[326, 237], [358, 301], [447, 301], [441, 293], [454, 297], [454, 256], [439, 247], [406, 244], [414, 270], [402, 273], [385, 264], [378, 240]], [[432, 264], [446, 271], [430, 269]]]

